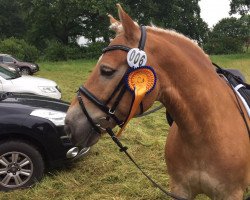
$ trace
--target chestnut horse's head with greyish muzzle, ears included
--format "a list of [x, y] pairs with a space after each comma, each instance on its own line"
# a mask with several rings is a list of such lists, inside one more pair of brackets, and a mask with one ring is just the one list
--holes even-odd
[[[110, 28], [116, 32], [116, 36], [104, 49], [94, 70], [85, 84], [79, 88], [67, 112], [65, 130], [71, 136], [73, 143], [77, 145], [91, 146], [99, 140], [101, 133], [104, 133], [107, 128], [113, 128], [116, 125], [122, 127], [131, 113], [130, 108], [136, 98], [135, 93], [130, 91], [131, 88], [125, 86], [129, 85], [127, 83], [129, 72], [136, 71], [136, 69], [129, 70], [127, 57], [128, 54], [131, 55], [132, 48], [138, 47], [139, 43], [145, 43], [146, 39], [143, 36], [145, 28], [142, 30], [119, 4], [117, 7], [120, 20], [109, 15]], [[141, 61], [139, 65], [142, 63], [148, 66], [157, 65], [152, 56], [154, 52], [149, 51], [147, 44], [142, 44], [142, 46], [146, 52], [147, 62], [145, 56], [139, 55], [136, 60]], [[132, 54], [132, 57], [135, 57], [137, 52]], [[148, 73], [147, 70], [150, 76], [155, 76], [153, 68], [144, 68], [146, 73]], [[147, 75], [141, 73], [136, 81], [142, 80], [143, 82], [144, 78], [147, 79], [145, 76]], [[147, 94], [142, 92], [143, 101], [141, 103], [141, 99], [138, 100], [137, 104], [141, 106], [140, 108], [135, 106], [134, 114], [146, 111], [157, 99], [158, 84], [156, 84], [156, 78], [153, 77], [153, 79], [151, 82], [153, 81], [154, 86], [151, 85], [152, 87], [148, 88], [150, 93], [149, 91], [146, 91]]]

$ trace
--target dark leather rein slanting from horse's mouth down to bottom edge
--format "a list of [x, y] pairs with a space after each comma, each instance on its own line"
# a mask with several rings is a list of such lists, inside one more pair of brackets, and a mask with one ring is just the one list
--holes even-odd
[[115, 144], [120, 148], [120, 152], [124, 152], [126, 154], [126, 156], [129, 158], [129, 160], [134, 163], [134, 165], [141, 171], [141, 173], [146, 176], [146, 178], [158, 189], [160, 189], [164, 194], [166, 194], [167, 196], [176, 199], [176, 200], [187, 200], [183, 197], [179, 197], [175, 194], [172, 194], [166, 190], [164, 190], [159, 184], [157, 184], [149, 175], [147, 175], [142, 169], [141, 167], [135, 162], [135, 160], [131, 157], [131, 155], [127, 152], [128, 148], [126, 146], [123, 146], [123, 144], [120, 142], [120, 140], [115, 136], [114, 132], [112, 131], [111, 128], [107, 128], [106, 131], [108, 132], [108, 134], [110, 135], [110, 137], [112, 138], [112, 140], [115, 142]]

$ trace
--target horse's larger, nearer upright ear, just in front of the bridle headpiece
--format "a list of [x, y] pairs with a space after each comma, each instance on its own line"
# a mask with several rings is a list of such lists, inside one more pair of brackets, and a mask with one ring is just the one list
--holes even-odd
[[140, 34], [138, 25], [130, 18], [130, 16], [123, 10], [120, 4], [116, 4], [118, 8], [119, 18], [122, 23], [125, 37], [127, 39], [137, 39]]

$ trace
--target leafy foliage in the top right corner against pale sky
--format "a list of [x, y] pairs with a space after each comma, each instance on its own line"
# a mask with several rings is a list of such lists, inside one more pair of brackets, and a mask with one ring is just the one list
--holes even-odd
[[230, 15], [239, 13], [246, 15], [250, 13], [250, 0], [231, 0], [230, 2]]

